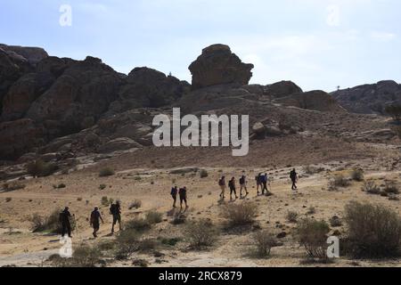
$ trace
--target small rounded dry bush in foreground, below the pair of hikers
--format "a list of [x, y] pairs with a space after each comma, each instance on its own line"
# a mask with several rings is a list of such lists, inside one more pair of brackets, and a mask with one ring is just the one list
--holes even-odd
[[209, 247], [217, 240], [217, 231], [207, 219], [187, 224], [184, 232], [192, 248]]

